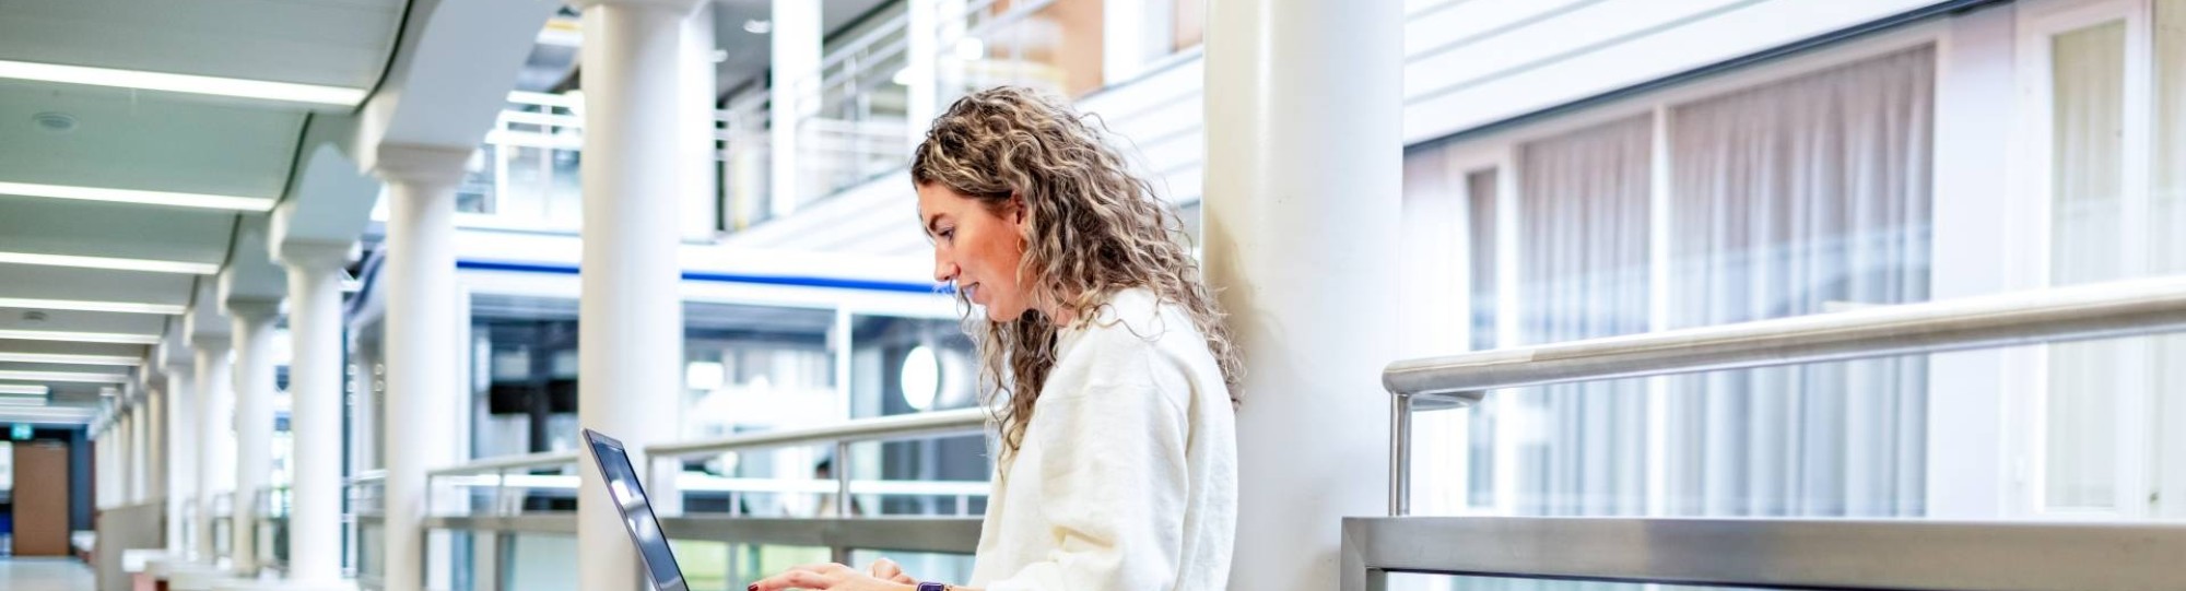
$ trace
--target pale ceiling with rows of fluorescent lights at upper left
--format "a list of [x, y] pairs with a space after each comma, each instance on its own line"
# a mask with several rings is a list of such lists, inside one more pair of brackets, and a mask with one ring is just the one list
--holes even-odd
[[[409, 0], [0, 0], [0, 61], [90, 66], [374, 90]], [[0, 184], [284, 199], [306, 123], [354, 105], [302, 105], [111, 85], [0, 79]], [[39, 118], [68, 118], [50, 129]], [[35, 193], [35, 190], [26, 190]], [[168, 201], [171, 204], [171, 201]], [[0, 252], [225, 265], [262, 256], [267, 212], [72, 201], [0, 193]], [[249, 223], [243, 223], [249, 221]], [[240, 228], [260, 228], [238, 232]], [[258, 241], [238, 250], [236, 241]], [[184, 306], [214, 276], [0, 263], [0, 300]], [[160, 337], [173, 317], [0, 306], [0, 331]], [[0, 333], [4, 335], [4, 333]], [[0, 339], [0, 355], [146, 357], [142, 344]], [[31, 357], [50, 359], [50, 357]], [[7, 372], [131, 374], [127, 366], [0, 361], [0, 383], [48, 385], [50, 405], [96, 407], [101, 383]], [[0, 422], [42, 412], [0, 407]]]

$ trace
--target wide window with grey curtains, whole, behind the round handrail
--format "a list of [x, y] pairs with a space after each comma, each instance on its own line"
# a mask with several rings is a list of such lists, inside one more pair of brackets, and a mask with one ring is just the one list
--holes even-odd
[[[1408, 306], [1462, 313], [1412, 350], [1926, 300], [1935, 50], [1806, 70], [1414, 149], [1406, 252], [1438, 254], [1403, 289], [1445, 296]], [[1432, 230], [1458, 239], [1417, 236]], [[1434, 282], [1432, 260], [1458, 278]], [[1919, 514], [1926, 383], [1915, 357], [1497, 390], [1421, 418], [1414, 510]]]

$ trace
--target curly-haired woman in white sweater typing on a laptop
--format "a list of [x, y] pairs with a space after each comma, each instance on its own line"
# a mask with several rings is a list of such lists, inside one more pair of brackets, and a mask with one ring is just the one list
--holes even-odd
[[933, 278], [986, 311], [995, 493], [968, 587], [894, 563], [754, 591], [1224, 589], [1237, 523], [1237, 350], [1152, 186], [1060, 101], [995, 88], [912, 158]]

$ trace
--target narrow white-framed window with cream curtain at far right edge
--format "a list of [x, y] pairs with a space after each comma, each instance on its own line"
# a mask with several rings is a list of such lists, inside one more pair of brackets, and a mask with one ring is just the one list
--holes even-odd
[[[2186, 271], [2186, 2], [2040, 2], [2020, 9], [2024, 190], [2046, 265], [2035, 285]], [[2177, 335], [2055, 344], [2022, 368], [2015, 429], [2040, 433], [2018, 510], [2179, 514], [2186, 385]], [[2173, 501], [2164, 501], [2171, 497]]]

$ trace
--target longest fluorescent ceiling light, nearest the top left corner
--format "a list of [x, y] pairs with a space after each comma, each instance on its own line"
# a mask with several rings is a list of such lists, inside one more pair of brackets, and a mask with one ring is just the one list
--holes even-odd
[[0, 59], [0, 79], [140, 88], [140, 90], [166, 90], [166, 92], [188, 92], [188, 94], [319, 103], [319, 105], [341, 105], [341, 107], [356, 107], [359, 103], [365, 103], [363, 88], [247, 81], [247, 79], [192, 77], [192, 74], [168, 74], [168, 72], [90, 68], [90, 66], [4, 61], [4, 59]]

